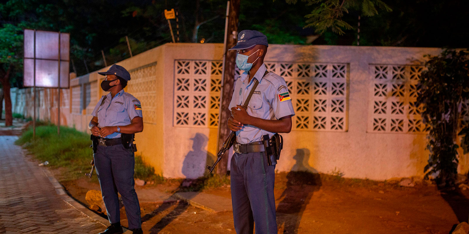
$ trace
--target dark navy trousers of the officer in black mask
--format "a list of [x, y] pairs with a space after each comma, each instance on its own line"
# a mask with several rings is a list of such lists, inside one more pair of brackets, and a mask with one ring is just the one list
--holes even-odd
[[109, 222], [121, 221], [119, 192], [129, 220], [129, 229], [140, 228], [140, 204], [134, 189], [134, 152], [123, 145], [98, 146], [94, 164]]

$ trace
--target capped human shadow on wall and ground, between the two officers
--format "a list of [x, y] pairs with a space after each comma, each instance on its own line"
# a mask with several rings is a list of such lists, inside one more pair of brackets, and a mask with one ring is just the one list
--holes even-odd
[[[176, 202], [176, 207], [166, 214], [162, 219], [158, 221], [153, 227], [151, 227], [150, 234], [157, 234], [168, 224], [170, 224], [174, 219], [179, 217], [183, 212], [187, 210], [189, 204], [185, 201], [180, 201], [179, 197], [175, 196], [179, 192], [189, 192], [184, 194], [185, 199], [191, 199], [199, 193], [201, 187], [199, 186], [200, 178], [197, 178], [204, 175], [205, 164], [213, 164], [213, 154], [208, 153], [205, 149], [207, 146], [208, 138], [204, 134], [196, 133], [193, 138], [190, 140], [193, 141], [192, 150], [184, 157], [182, 162], [182, 174], [186, 177], [179, 187], [174, 190], [173, 195], [171, 196]], [[174, 202], [166, 202], [159, 206], [156, 210], [152, 211], [149, 214], [142, 217], [142, 222], [150, 220], [154, 216], [162, 212], [168, 212], [174, 206]]]

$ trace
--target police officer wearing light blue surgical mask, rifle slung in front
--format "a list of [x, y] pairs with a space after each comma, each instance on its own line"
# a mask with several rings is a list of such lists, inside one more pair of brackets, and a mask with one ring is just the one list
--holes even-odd
[[[242, 30], [237, 44], [236, 65], [244, 71], [234, 86], [229, 108], [228, 128], [236, 132], [238, 149], [231, 159], [231, 197], [234, 228], [237, 234], [276, 234], [275, 199], [273, 194], [275, 165], [269, 166], [261, 147], [262, 136], [290, 132], [295, 115], [285, 80], [267, 73], [264, 65], [267, 37], [254, 30]], [[250, 94], [254, 81], [259, 83], [247, 110], [242, 104]], [[235, 150], [236, 151], [236, 150]], [[261, 152], [259, 152], [261, 151]]]

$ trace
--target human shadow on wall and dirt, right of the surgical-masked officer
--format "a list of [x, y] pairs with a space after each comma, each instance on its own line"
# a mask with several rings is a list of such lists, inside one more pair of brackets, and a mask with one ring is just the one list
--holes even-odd
[[303, 212], [310, 203], [315, 191], [321, 187], [318, 171], [308, 164], [310, 150], [296, 149], [296, 161], [287, 174], [287, 188], [277, 199], [282, 199], [277, 207], [277, 226], [284, 226], [283, 233], [296, 234]]

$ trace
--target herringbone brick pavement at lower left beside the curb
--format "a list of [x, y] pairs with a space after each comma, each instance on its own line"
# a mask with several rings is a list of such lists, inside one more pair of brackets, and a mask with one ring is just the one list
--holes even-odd
[[96, 234], [105, 226], [61, 199], [15, 136], [0, 136], [0, 234]]

